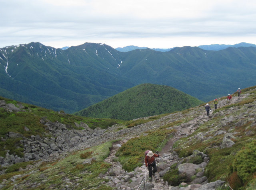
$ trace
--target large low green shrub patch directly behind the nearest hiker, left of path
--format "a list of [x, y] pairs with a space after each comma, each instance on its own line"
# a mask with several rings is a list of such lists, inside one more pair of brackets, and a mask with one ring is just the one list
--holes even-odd
[[123, 144], [117, 151], [116, 156], [119, 157], [119, 161], [123, 165], [124, 170], [130, 172], [137, 166], [141, 166], [145, 158], [145, 151], [152, 150], [155, 152], [159, 148], [158, 145], [161, 144], [163, 147], [167, 142], [168, 134], [172, 132], [174, 132], [174, 130], [158, 129], [149, 132], [148, 135], [130, 139]]

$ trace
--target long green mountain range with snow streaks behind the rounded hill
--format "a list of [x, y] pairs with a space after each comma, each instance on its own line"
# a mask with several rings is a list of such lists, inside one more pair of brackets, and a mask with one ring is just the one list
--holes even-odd
[[206, 102], [255, 85], [256, 47], [120, 52], [101, 43], [62, 50], [32, 42], [0, 49], [0, 78], [1, 96], [68, 113], [143, 83]]

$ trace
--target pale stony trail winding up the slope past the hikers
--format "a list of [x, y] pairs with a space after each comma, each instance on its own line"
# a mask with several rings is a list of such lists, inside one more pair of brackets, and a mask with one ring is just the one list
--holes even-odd
[[[230, 102], [227, 102], [226, 99], [220, 100], [218, 108], [225, 106], [227, 104], [237, 103], [243, 98], [245, 98], [248, 94], [244, 94], [242, 97], [233, 97]], [[218, 109], [217, 108], [217, 109]], [[212, 109], [213, 111], [213, 109]], [[168, 117], [168, 116], [167, 116]], [[188, 136], [193, 133], [198, 124], [202, 125], [204, 122], [208, 121], [212, 118], [212, 115], [208, 117], [206, 112], [202, 110], [202, 112], [198, 113], [198, 116], [194, 119], [184, 122], [181, 125], [174, 126], [176, 128], [176, 134], [168, 140], [166, 145], [159, 152], [160, 158], [156, 158], [158, 171], [155, 176], [152, 177], [152, 182], [148, 180], [148, 169], [143, 164], [141, 167], [137, 167], [134, 172], [127, 172], [122, 169], [122, 165], [117, 161], [117, 157], [115, 156], [116, 151], [125, 143], [129, 138], [125, 140], [118, 141], [112, 146], [112, 150], [106, 162], [111, 163], [112, 167], [108, 173], [104, 176], [106, 180], [109, 180], [107, 184], [112, 187], [117, 188], [118, 190], [214, 190], [218, 186], [224, 184], [224, 181], [218, 180], [216, 182], [208, 183], [207, 177], [203, 176], [204, 168], [207, 165], [209, 158], [204, 153], [199, 151], [194, 151], [194, 154], [200, 155], [204, 160], [203, 163], [199, 165], [186, 163], [182, 167], [179, 167], [179, 172], [185, 171], [188, 175], [188, 178], [192, 177], [196, 174], [196, 178], [192, 180], [189, 184], [182, 183], [179, 186], [171, 186], [168, 185], [168, 182], [164, 182], [163, 175], [170, 169], [170, 166], [175, 163], [181, 163], [184, 158], [179, 158], [176, 152], [172, 152], [172, 145], [175, 141], [180, 139], [181, 137]], [[162, 118], [161, 118], [162, 119]], [[157, 123], [157, 121], [152, 121], [153, 123]], [[142, 124], [147, 127], [148, 123]], [[143, 128], [143, 127], [141, 127]], [[196, 173], [196, 170], [201, 168], [199, 172]], [[145, 181], [145, 184], [144, 184]]]

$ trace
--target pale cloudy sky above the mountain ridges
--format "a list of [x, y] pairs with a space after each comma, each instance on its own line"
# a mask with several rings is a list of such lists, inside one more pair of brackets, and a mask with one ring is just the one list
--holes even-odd
[[255, 0], [0, 0], [0, 48], [256, 44]]

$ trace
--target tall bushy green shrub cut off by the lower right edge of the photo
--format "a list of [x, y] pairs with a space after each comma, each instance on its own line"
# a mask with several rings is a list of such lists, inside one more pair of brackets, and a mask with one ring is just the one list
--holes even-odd
[[237, 175], [245, 183], [251, 180], [256, 174], [256, 141], [248, 143], [240, 150], [232, 163], [233, 171], [237, 171]]

